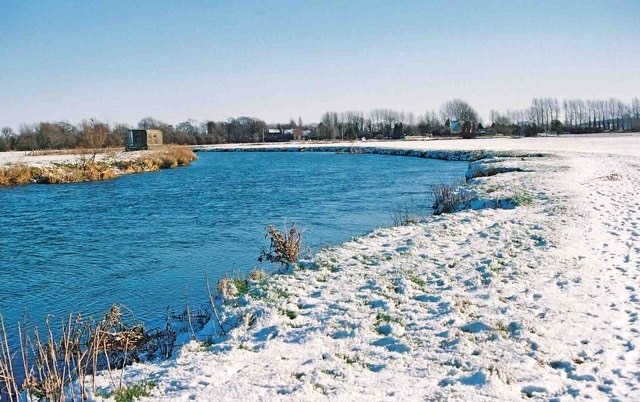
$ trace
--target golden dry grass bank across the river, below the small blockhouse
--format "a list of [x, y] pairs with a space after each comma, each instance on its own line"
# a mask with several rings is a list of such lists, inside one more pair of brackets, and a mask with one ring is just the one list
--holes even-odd
[[77, 157], [73, 161], [50, 166], [29, 166], [24, 163], [0, 167], [0, 186], [30, 183], [62, 184], [109, 180], [122, 174], [153, 172], [188, 165], [196, 158], [188, 147], [167, 147], [133, 159]]

